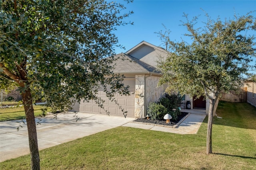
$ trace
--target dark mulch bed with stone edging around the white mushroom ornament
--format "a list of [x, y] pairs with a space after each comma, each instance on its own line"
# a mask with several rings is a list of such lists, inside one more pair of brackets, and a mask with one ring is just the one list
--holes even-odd
[[165, 126], [174, 126], [176, 125], [183, 117], [185, 117], [188, 113], [186, 112], [181, 112], [181, 115], [178, 117], [177, 121], [173, 121], [172, 119], [170, 119], [170, 124], [166, 123], [165, 119], [161, 119], [161, 120], [151, 120], [151, 119], [147, 119], [147, 118], [138, 118], [136, 120], [134, 120], [135, 122], [142, 122], [142, 123], [152, 123], [152, 124], [156, 124], [156, 125], [165, 125]]

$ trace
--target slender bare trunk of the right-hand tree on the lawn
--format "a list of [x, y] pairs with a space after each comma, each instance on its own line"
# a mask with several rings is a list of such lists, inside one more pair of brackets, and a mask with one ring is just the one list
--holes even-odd
[[209, 107], [209, 113], [208, 113], [208, 124], [207, 124], [206, 154], [212, 154], [212, 119], [214, 116], [215, 104], [216, 104], [216, 100], [210, 99], [210, 107]]

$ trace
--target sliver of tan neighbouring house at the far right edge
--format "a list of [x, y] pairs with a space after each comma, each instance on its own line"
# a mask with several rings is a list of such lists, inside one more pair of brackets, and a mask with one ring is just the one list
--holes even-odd
[[247, 80], [244, 84], [244, 87], [247, 88], [247, 90], [245, 90], [247, 96], [247, 103], [256, 107], [256, 82], [253, 82], [252, 80]]

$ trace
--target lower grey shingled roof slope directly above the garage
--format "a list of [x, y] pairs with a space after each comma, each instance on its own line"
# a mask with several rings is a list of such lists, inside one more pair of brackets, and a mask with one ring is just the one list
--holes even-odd
[[161, 74], [156, 67], [144, 63], [130, 55], [121, 53], [114, 56], [114, 72], [118, 73], [154, 73]]

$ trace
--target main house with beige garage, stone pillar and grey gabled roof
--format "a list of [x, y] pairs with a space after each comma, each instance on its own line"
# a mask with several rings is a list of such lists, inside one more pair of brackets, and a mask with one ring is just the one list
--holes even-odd
[[[126, 53], [115, 56], [120, 58], [115, 61], [114, 72], [124, 74], [124, 85], [130, 86], [131, 94], [130, 96], [117, 94], [115, 98], [124, 111], [127, 111], [128, 117], [145, 117], [148, 104], [158, 101], [164, 95], [164, 89], [157, 87], [161, 72], [156, 70], [156, 61], [159, 60], [160, 56], [166, 57], [167, 55], [168, 53], [165, 49], [142, 41]], [[99, 95], [106, 101], [104, 107], [110, 112], [110, 115], [123, 115], [115, 102], [108, 100], [103, 91], [99, 90]], [[206, 101], [203, 98], [193, 100], [193, 98], [186, 95], [184, 100], [191, 101], [191, 108], [206, 109]], [[105, 112], [93, 101], [76, 103], [73, 106], [73, 111], [86, 113]]]

